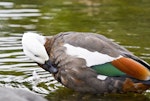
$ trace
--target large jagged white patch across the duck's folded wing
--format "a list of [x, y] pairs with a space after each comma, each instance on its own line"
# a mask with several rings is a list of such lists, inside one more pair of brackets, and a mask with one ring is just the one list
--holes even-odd
[[75, 47], [70, 44], [64, 44], [64, 46], [67, 48], [66, 53], [71, 56], [83, 58], [86, 60], [87, 66], [93, 66], [93, 65], [99, 65], [104, 64], [107, 62], [111, 62], [115, 60], [116, 58], [111, 57], [107, 54], [102, 54], [97, 51], [91, 52], [85, 48], [82, 47]]

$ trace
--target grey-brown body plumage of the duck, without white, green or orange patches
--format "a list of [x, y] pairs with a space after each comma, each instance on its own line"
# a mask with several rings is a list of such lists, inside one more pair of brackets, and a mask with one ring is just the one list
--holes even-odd
[[[85, 37], [87, 37], [87, 39], [85, 39]], [[98, 39], [96, 39], [96, 37]], [[106, 46], [105, 42], [108, 43]], [[128, 54], [133, 58], [138, 58], [123, 47], [105, 39], [103, 36], [93, 35], [92, 33], [89, 35], [83, 33], [61, 33], [56, 35], [47, 39], [45, 48], [53, 65], [58, 68], [58, 73], [54, 74], [55, 79], [66, 87], [79, 92], [90, 93], [123, 93], [130, 91], [141, 93], [150, 87], [139, 82], [139, 80], [127, 76], [108, 77], [106, 80], [97, 79], [96, 72], [91, 68], [87, 68], [83, 59], [66, 55], [65, 47], [62, 46], [63, 43], [70, 43], [74, 46], [84, 47], [91, 51], [96, 50], [104, 54], [109, 54], [110, 56], [116, 57], [121, 54], [128, 57], [126, 55]], [[93, 44], [91, 45], [88, 43]]]

